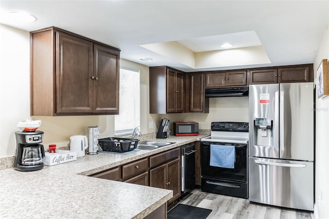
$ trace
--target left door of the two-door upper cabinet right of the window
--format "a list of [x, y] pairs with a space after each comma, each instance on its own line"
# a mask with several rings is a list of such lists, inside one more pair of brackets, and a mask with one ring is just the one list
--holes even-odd
[[[167, 113], [176, 112], [176, 71], [167, 70]], [[163, 97], [165, 98], [165, 97]]]

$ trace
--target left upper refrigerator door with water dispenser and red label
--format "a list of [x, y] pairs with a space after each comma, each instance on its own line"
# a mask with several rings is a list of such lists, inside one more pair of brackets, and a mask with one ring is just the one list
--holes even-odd
[[249, 156], [279, 158], [279, 84], [249, 85]]

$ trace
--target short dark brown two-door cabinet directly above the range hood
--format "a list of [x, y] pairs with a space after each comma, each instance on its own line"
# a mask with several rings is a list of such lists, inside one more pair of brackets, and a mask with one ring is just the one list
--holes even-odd
[[247, 70], [213, 71], [206, 73], [206, 88], [247, 85]]

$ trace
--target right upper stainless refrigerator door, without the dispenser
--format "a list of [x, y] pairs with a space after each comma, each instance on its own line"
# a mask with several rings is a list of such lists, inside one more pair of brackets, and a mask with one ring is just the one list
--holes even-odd
[[280, 159], [314, 160], [313, 82], [280, 84]]

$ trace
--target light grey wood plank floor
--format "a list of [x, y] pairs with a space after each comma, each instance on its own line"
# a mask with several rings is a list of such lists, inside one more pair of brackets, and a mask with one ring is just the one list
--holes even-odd
[[312, 218], [312, 211], [300, 211], [288, 208], [280, 208], [269, 205], [249, 202], [245, 198], [237, 198], [226, 195], [202, 192], [194, 189], [190, 195], [179, 200], [179, 203], [211, 209], [207, 219], [235, 219], [235, 218], [271, 218], [271, 219], [299, 219]]

